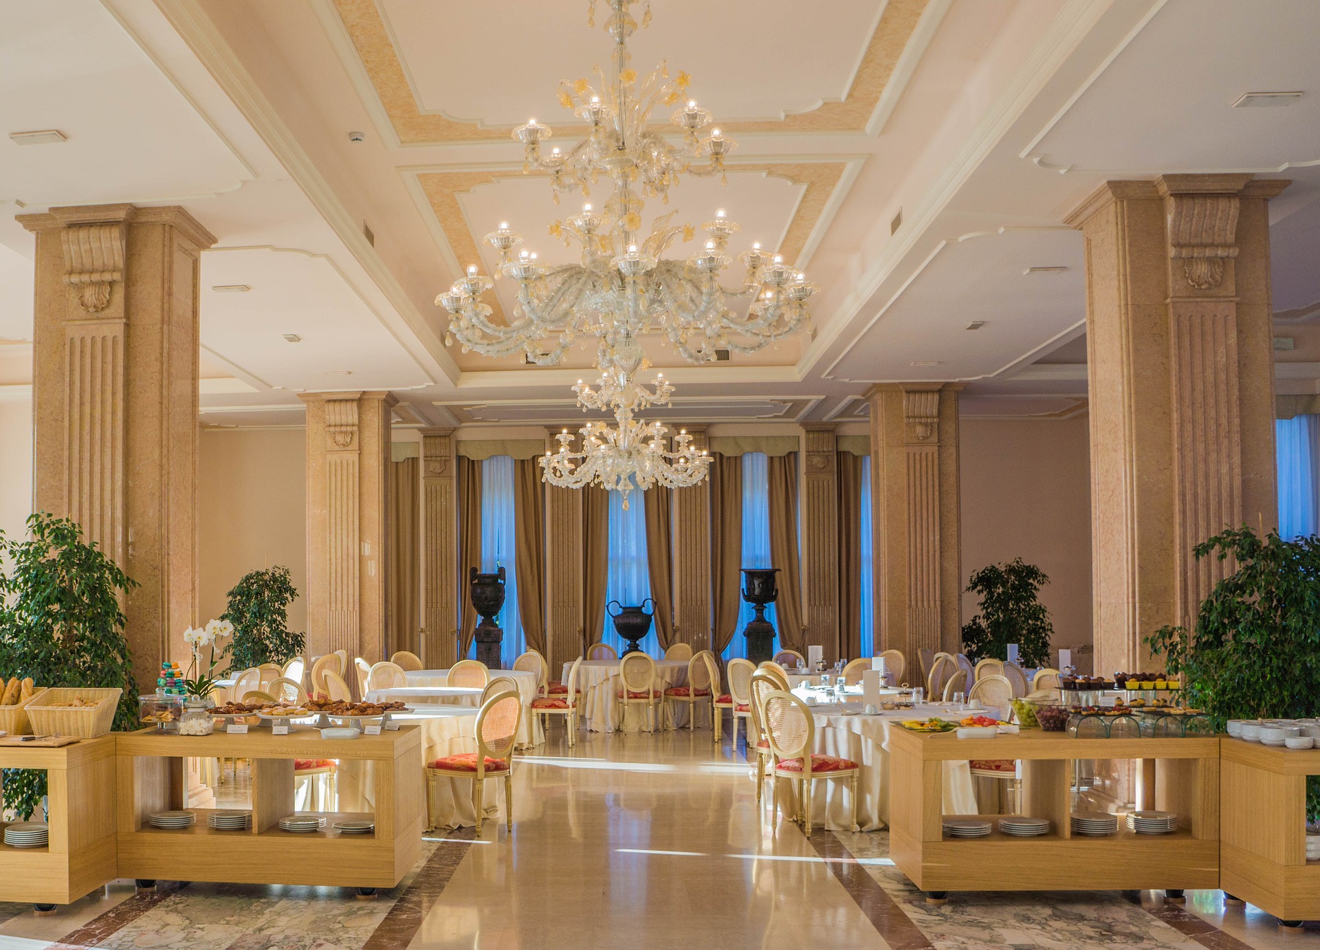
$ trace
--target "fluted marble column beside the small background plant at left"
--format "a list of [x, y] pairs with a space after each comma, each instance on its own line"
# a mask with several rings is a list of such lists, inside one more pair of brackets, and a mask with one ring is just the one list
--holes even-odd
[[301, 398], [308, 404], [308, 652], [346, 649], [350, 664], [352, 657], [378, 662], [387, 658], [389, 425], [397, 400], [388, 392]]

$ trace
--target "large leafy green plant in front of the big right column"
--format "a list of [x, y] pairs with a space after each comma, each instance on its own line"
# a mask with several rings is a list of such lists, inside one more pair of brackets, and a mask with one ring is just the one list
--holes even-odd
[[[1201, 602], [1196, 628], [1146, 637], [1183, 678], [1188, 702], [1216, 730], [1229, 719], [1320, 715], [1320, 538], [1284, 541], [1250, 528], [1196, 545], [1197, 559], [1233, 558], [1237, 571]], [[1320, 818], [1320, 781], [1307, 778], [1307, 817]]]

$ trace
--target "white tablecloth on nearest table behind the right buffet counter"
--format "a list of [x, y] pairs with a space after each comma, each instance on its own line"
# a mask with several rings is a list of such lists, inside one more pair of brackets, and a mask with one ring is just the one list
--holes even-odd
[[[890, 818], [890, 730], [902, 728], [898, 723], [903, 719], [932, 715], [952, 719], [956, 714], [940, 706], [880, 715], [858, 715], [861, 711], [862, 703], [858, 702], [813, 709], [816, 752], [851, 759], [862, 767], [857, 776], [857, 825], [862, 831], [876, 831], [887, 827]], [[780, 800], [785, 808], [792, 808], [797, 800], [793, 784], [787, 778], [777, 781]], [[812, 792], [812, 825], [836, 831], [850, 830], [851, 802], [847, 794], [846, 778], [817, 780]], [[972, 771], [965, 761], [944, 763], [944, 813], [977, 814]]]

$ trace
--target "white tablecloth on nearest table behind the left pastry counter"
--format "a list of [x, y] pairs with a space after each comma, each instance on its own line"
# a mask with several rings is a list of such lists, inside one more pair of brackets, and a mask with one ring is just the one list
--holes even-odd
[[[417, 726], [421, 728], [421, 761], [422, 767], [436, 759], [457, 755], [459, 752], [475, 752], [477, 740], [473, 738], [473, 727], [477, 722], [475, 706], [441, 706], [416, 712], [396, 712], [392, 719], [404, 726]], [[422, 775], [426, 794], [430, 794], [430, 821], [428, 830], [466, 827], [477, 825], [477, 813], [473, 810], [473, 780], [471, 778], [437, 778], [432, 789]], [[376, 810], [376, 768], [372, 761], [359, 761], [351, 759], [339, 760], [339, 773], [337, 777], [339, 792], [339, 811], [375, 811]], [[503, 780], [487, 778], [483, 796], [486, 815], [494, 815], [499, 810], [503, 797]], [[411, 817], [411, 815], [409, 815]]]

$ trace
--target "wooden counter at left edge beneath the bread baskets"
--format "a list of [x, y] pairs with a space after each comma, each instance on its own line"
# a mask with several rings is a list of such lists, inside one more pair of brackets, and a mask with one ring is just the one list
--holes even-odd
[[46, 910], [116, 877], [115, 736], [59, 748], [0, 745], [0, 768], [46, 771], [50, 827], [41, 848], [16, 848], [0, 838], [0, 900]]

